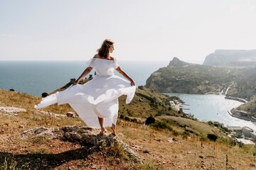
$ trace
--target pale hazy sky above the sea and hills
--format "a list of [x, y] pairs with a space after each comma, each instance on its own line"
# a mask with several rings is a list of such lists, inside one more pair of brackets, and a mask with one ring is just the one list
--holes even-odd
[[88, 60], [105, 38], [117, 60], [256, 49], [255, 0], [0, 0], [0, 60]]

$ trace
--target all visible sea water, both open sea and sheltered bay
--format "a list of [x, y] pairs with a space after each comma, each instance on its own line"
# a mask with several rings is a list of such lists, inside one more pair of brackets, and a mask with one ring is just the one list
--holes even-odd
[[[77, 79], [86, 61], [0, 61], [0, 89], [14, 89], [33, 96], [50, 93]], [[134, 79], [137, 86], [145, 85], [151, 73], [166, 67], [167, 61], [119, 61], [120, 67]], [[90, 74], [94, 74], [94, 70]], [[115, 73], [119, 74], [119, 73]], [[121, 76], [121, 75], [120, 75]], [[89, 77], [89, 75], [87, 76]], [[122, 77], [122, 76], [121, 76]], [[183, 111], [198, 120], [218, 121], [228, 126], [247, 126], [256, 131], [256, 123], [233, 118], [228, 111], [240, 106], [240, 101], [225, 99], [218, 94], [168, 94], [185, 102]]]

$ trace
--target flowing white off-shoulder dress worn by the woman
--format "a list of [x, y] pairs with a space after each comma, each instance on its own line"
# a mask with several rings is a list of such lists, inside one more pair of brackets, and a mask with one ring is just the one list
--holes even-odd
[[115, 59], [92, 58], [87, 64], [96, 70], [96, 76], [92, 80], [47, 96], [35, 108], [45, 108], [54, 103], [68, 103], [90, 128], [100, 128], [97, 117], [105, 118], [105, 127], [112, 126], [112, 123], [115, 125], [118, 97], [127, 95], [126, 103], [130, 103], [136, 86], [131, 86], [126, 79], [114, 75], [114, 69], [119, 67]]

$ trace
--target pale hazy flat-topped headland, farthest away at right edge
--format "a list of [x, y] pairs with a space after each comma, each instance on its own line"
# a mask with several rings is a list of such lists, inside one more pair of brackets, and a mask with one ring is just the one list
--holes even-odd
[[215, 50], [203, 64], [228, 66], [256, 66], [256, 50]]

